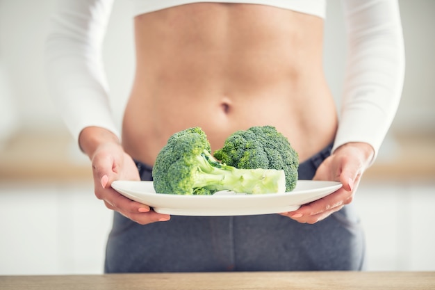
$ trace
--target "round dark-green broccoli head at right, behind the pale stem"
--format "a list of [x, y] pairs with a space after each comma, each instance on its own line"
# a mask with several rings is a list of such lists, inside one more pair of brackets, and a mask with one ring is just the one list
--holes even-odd
[[296, 186], [299, 156], [275, 127], [257, 126], [236, 131], [213, 156], [236, 168], [284, 170], [286, 191], [293, 191]]

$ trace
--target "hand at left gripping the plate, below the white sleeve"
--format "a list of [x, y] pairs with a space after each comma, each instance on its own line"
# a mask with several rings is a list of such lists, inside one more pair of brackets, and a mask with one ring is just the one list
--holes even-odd
[[[95, 134], [95, 130], [98, 130]], [[95, 195], [103, 200], [108, 209], [118, 211], [136, 223], [146, 225], [170, 220], [167, 214], [158, 214], [146, 204], [135, 202], [115, 191], [110, 185], [115, 180], [140, 180], [136, 163], [124, 152], [122, 145], [110, 132], [97, 127], [86, 128], [80, 136], [80, 145], [92, 161]], [[92, 133], [92, 131], [94, 131]], [[103, 133], [103, 134], [101, 134]], [[110, 138], [98, 138], [106, 136]], [[92, 138], [86, 138], [92, 136]]]

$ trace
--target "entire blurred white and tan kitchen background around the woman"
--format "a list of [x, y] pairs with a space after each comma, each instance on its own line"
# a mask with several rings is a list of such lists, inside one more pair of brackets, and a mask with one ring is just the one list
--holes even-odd
[[[400, 2], [407, 51], [402, 102], [354, 202], [368, 270], [435, 271], [435, 1]], [[339, 0], [327, 1], [325, 72], [340, 104]], [[43, 51], [55, 0], [0, 0], [0, 275], [102, 273], [111, 212], [90, 161], [49, 97]], [[115, 1], [104, 47], [120, 124], [133, 76], [131, 3]]]

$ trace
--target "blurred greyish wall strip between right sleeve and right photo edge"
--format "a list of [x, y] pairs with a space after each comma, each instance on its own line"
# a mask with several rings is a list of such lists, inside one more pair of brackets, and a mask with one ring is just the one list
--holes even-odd
[[403, 99], [395, 129], [435, 132], [435, 1], [400, 1], [407, 51]]

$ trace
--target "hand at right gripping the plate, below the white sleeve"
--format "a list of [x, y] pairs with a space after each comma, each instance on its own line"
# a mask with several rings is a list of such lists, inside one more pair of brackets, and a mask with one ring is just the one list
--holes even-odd
[[343, 187], [325, 198], [304, 204], [296, 211], [282, 215], [293, 218], [299, 223], [317, 223], [330, 214], [339, 211], [345, 204], [352, 202], [361, 175], [373, 158], [373, 149], [367, 143], [346, 143], [337, 148], [320, 164], [314, 180], [341, 182]]

